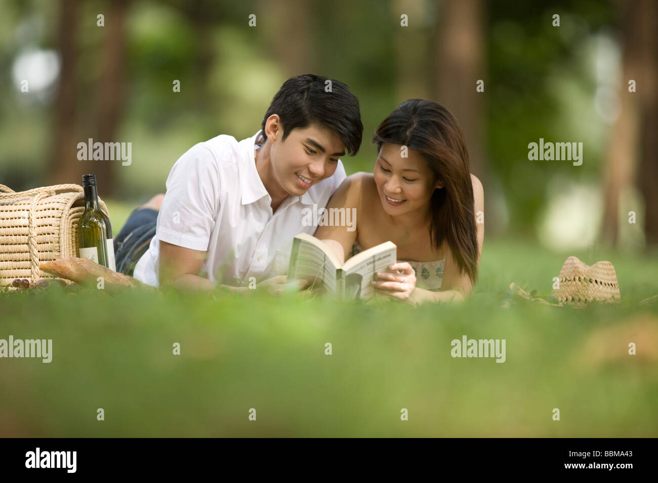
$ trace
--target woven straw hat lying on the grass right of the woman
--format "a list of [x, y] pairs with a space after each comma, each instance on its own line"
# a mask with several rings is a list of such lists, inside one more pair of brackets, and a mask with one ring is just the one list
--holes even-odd
[[558, 302], [584, 307], [590, 302], [619, 304], [619, 284], [610, 262], [585, 265], [574, 256], [567, 258], [559, 276], [559, 288], [553, 288]]

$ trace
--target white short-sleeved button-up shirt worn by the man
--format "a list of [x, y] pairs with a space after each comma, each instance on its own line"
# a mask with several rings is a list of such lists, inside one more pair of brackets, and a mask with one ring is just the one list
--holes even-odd
[[222, 285], [248, 285], [286, 275], [292, 239], [315, 233], [303, 225], [303, 209], [324, 208], [345, 179], [340, 160], [331, 177], [302, 196], [288, 196], [272, 214], [272, 198], [256, 170], [260, 131], [238, 142], [219, 135], [193, 146], [174, 164], [158, 214], [155, 237], [134, 277], [159, 285], [159, 243], [205, 251], [201, 277]]

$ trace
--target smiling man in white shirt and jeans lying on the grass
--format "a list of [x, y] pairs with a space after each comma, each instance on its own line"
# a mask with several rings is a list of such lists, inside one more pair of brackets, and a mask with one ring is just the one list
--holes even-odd
[[[284, 283], [293, 237], [316, 229], [303, 225], [302, 210], [326, 206], [345, 179], [340, 156], [359, 150], [359, 101], [340, 81], [295, 76], [276, 93], [261, 127], [240, 142], [219, 135], [176, 161], [159, 212], [151, 200], [118, 235], [119, 271], [130, 274], [130, 258], [155, 225], [134, 267], [144, 283], [201, 290], [248, 290], [253, 283], [277, 290]], [[140, 217], [150, 221], [136, 227]]]

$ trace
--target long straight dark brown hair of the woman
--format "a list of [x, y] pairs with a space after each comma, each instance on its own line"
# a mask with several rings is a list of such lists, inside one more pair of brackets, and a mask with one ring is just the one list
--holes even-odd
[[473, 285], [478, 273], [478, 239], [468, 151], [455, 116], [439, 103], [409, 99], [377, 127], [372, 137], [383, 143], [417, 150], [436, 180], [443, 182], [430, 199], [430, 241], [438, 250], [447, 241], [461, 273]]

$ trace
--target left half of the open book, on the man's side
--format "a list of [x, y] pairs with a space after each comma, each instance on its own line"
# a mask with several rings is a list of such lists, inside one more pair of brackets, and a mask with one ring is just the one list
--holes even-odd
[[[302, 237], [301, 235], [305, 235]], [[311, 240], [312, 239], [312, 240]], [[332, 294], [336, 293], [336, 256], [318, 239], [302, 233], [293, 239], [288, 279], [317, 279]]]

